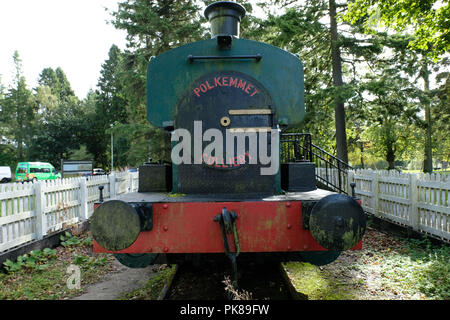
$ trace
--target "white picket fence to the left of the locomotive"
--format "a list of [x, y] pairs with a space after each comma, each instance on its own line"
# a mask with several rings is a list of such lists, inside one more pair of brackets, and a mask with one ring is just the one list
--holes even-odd
[[0, 252], [87, 220], [99, 199], [135, 192], [138, 173], [0, 185]]

